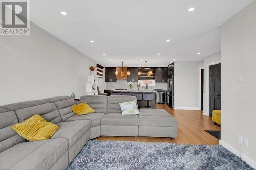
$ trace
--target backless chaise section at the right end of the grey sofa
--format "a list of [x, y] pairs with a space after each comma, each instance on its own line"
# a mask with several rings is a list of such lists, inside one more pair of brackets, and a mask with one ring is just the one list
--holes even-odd
[[177, 120], [164, 109], [139, 109], [139, 136], [177, 137]]

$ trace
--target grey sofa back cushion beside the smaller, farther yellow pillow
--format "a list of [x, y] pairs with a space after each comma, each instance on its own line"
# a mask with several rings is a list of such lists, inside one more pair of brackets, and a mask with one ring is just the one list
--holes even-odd
[[106, 103], [108, 96], [104, 95], [84, 95], [80, 98], [81, 102], [87, 102], [95, 112], [106, 113]]

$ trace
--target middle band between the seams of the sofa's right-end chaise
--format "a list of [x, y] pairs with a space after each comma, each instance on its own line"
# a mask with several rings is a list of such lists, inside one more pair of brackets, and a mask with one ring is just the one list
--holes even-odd
[[170, 116], [141, 116], [139, 115], [140, 126], [163, 126], [177, 127], [178, 123], [174, 117]]

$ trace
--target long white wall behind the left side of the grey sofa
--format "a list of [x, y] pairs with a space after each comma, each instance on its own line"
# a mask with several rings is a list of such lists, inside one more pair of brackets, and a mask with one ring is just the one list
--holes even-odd
[[33, 23], [30, 27], [30, 36], [0, 37], [0, 106], [86, 94], [89, 66], [96, 61]]

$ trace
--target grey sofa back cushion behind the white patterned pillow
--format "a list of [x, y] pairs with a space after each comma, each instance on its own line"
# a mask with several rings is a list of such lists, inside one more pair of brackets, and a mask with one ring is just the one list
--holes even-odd
[[[122, 113], [119, 103], [130, 102], [132, 100], [136, 100], [136, 104], [137, 104], [137, 98], [135, 96], [111, 95], [108, 98], [108, 105], [106, 107], [106, 113], [107, 114], [108, 113]], [[137, 104], [137, 106], [138, 106], [138, 104]]]

